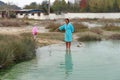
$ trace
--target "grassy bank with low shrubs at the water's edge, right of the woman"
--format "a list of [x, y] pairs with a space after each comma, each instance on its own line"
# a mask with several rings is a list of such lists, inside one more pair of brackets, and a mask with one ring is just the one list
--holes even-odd
[[[99, 32], [99, 31], [98, 31]], [[103, 31], [101, 34], [98, 34], [93, 31], [78, 32], [78, 41], [101, 41], [101, 40], [120, 40], [120, 33], [114, 31]]]

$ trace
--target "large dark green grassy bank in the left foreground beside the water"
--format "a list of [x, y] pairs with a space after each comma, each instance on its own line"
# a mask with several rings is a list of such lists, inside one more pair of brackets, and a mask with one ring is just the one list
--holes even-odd
[[[0, 35], [0, 68], [30, 60], [35, 55], [35, 42], [24, 35]], [[0, 70], [1, 70], [0, 69]]]

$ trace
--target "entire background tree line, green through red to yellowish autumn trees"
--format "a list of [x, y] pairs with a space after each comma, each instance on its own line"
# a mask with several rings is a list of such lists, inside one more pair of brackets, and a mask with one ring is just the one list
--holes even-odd
[[[42, 9], [48, 13], [49, 3], [43, 1], [41, 4], [32, 2], [25, 5], [24, 9]], [[120, 0], [80, 0], [72, 3], [65, 0], [55, 0], [50, 5], [51, 13], [61, 12], [120, 12]]]

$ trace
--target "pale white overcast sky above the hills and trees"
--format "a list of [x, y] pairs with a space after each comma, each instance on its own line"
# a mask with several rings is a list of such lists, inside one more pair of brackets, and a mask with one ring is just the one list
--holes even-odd
[[[46, 0], [0, 0], [3, 1], [5, 3], [12, 3], [12, 4], [16, 4], [19, 7], [23, 7], [24, 5], [30, 4], [31, 2], [37, 2], [37, 3], [41, 3], [42, 1], [46, 1]], [[54, 0], [50, 0], [51, 3], [54, 2]], [[68, 1], [68, 0], [65, 0]], [[74, 0], [69, 0], [71, 2], [74, 2]]]

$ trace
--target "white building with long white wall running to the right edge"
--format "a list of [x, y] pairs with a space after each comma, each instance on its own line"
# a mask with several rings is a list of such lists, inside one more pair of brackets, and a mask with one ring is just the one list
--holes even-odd
[[120, 19], [120, 13], [62, 13], [57, 15], [55, 13], [50, 13], [45, 15], [42, 10], [19, 10], [16, 11], [17, 18], [28, 18], [28, 19], [37, 19], [37, 20], [55, 20], [55, 19]]

